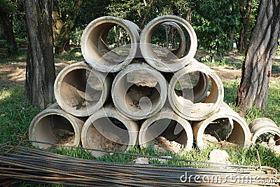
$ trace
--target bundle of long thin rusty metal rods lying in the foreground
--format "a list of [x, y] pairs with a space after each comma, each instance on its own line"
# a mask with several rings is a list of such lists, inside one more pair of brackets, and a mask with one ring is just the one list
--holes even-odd
[[66, 186], [279, 186], [280, 175], [271, 167], [161, 159], [181, 165], [100, 162], [7, 143], [0, 146], [0, 186], [22, 181]]

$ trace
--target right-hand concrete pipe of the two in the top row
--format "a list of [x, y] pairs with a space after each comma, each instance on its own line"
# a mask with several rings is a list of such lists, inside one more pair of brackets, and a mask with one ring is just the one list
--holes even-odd
[[[178, 36], [175, 30], [179, 33], [179, 40], [176, 39]], [[160, 43], [160, 40], [165, 40], [165, 43]], [[171, 49], [170, 46], [178, 47]], [[155, 69], [164, 72], [179, 71], [195, 56], [197, 36], [190, 23], [183, 18], [162, 15], [151, 20], [143, 29], [140, 48], [146, 62]]]

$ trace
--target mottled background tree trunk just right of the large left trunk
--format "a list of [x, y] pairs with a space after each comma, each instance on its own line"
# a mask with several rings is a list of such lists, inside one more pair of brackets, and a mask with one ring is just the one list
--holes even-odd
[[52, 27], [54, 33], [54, 46], [55, 54], [61, 55], [64, 53], [69, 53], [70, 48], [70, 32], [73, 27], [73, 22], [76, 20], [78, 15], [78, 9], [82, 4], [82, 0], [76, 0], [74, 7], [65, 8], [66, 12], [64, 14], [68, 15], [66, 18], [62, 18], [62, 13], [59, 13], [56, 6], [52, 9], [52, 20], [54, 25]]

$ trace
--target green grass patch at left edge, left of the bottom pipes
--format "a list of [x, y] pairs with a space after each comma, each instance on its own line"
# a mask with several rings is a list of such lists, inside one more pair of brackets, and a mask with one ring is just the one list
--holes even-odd
[[0, 91], [0, 144], [11, 141], [14, 144], [27, 139], [32, 118], [39, 112], [25, 99], [22, 87]]

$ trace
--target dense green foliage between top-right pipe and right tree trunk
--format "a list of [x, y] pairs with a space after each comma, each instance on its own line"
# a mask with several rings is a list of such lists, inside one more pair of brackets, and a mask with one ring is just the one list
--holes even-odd
[[193, 3], [193, 27], [200, 46], [209, 53], [231, 50], [229, 34], [241, 27], [237, 1], [204, 0]]

